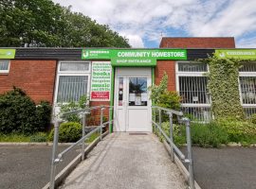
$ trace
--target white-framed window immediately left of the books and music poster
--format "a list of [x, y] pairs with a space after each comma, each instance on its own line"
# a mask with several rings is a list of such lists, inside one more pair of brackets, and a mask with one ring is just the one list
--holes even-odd
[[61, 61], [58, 66], [57, 103], [79, 101], [83, 94], [88, 94], [90, 78], [89, 61]]

